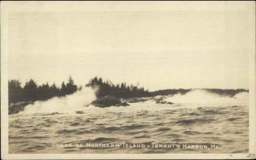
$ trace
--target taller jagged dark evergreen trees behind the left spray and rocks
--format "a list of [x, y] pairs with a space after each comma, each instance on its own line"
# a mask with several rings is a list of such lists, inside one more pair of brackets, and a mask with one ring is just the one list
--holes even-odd
[[[98, 91], [96, 92], [97, 97], [107, 95], [115, 96], [117, 98], [150, 96], [148, 90], [145, 91], [143, 87], [139, 87], [139, 83], [137, 83], [136, 86], [133, 84], [128, 86], [125, 82], [121, 83], [121, 85], [115, 85], [109, 80], [103, 82], [102, 78], [98, 78], [97, 76], [92, 78], [85, 87], [98, 87]], [[9, 104], [24, 101], [47, 100], [52, 97], [62, 97], [81, 89], [82, 86], [77, 87], [71, 76], [69, 76], [68, 83], [65, 84], [65, 82], [62, 82], [61, 88], [57, 87], [55, 83], [52, 85], [49, 85], [48, 83], [37, 85], [33, 79], [26, 82], [22, 88], [19, 80], [12, 79], [8, 81]]]

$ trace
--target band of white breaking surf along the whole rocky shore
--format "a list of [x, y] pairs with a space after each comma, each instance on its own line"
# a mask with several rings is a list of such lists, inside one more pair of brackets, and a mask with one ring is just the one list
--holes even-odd
[[[201, 106], [209, 107], [220, 107], [220, 106], [237, 106], [237, 105], [248, 105], [249, 93], [240, 92], [234, 97], [221, 96], [215, 93], [211, 93], [205, 90], [196, 89], [186, 94], [175, 94], [162, 96], [164, 101], [172, 102], [174, 105], [168, 104], [156, 104], [154, 99], [161, 98], [156, 96], [152, 98], [143, 98], [143, 101], [138, 103], [129, 103], [130, 106], [115, 107], [111, 106], [108, 108], [98, 108], [93, 105], [89, 105], [96, 98], [95, 92], [97, 89], [86, 87], [82, 91], [77, 91], [74, 94], [67, 95], [66, 97], [54, 97], [46, 101], [36, 101], [34, 104], [27, 105], [24, 111], [19, 114], [34, 114], [34, 113], [49, 113], [60, 114], [60, 113], [77, 113], [83, 114], [84, 112], [119, 112], [119, 108], [123, 108], [124, 112], [140, 111], [140, 110], [163, 110], [175, 107], [178, 108], [197, 108]], [[145, 101], [146, 99], [146, 101]], [[85, 107], [89, 105], [89, 107]]]

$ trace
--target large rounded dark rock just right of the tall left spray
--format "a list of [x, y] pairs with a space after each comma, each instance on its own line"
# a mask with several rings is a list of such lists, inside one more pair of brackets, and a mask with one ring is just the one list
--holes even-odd
[[121, 103], [121, 101], [118, 98], [112, 97], [112, 96], [105, 96], [105, 97], [97, 98], [95, 101], [91, 103], [91, 105], [104, 108], [104, 107], [114, 106], [119, 103]]

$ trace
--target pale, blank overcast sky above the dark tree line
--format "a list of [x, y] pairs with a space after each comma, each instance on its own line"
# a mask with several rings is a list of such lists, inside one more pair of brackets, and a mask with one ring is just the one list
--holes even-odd
[[9, 12], [9, 79], [248, 89], [248, 12]]

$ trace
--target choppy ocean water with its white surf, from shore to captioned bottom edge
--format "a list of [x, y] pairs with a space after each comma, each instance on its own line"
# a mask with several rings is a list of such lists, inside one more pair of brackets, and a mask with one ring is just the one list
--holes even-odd
[[84, 107], [93, 99], [87, 90], [9, 115], [9, 153], [249, 152], [246, 92], [231, 98], [195, 90], [167, 96], [173, 105]]

